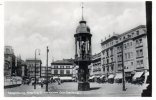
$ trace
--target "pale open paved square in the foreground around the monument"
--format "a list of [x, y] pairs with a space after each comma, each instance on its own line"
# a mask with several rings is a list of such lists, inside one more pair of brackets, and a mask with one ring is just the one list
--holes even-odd
[[49, 92], [37, 85], [36, 89], [32, 85], [21, 85], [19, 87], [4, 90], [6, 97], [140, 97], [142, 92], [141, 85], [126, 83], [126, 91], [122, 91], [122, 84], [109, 83], [90, 83], [89, 91], [78, 91], [78, 83], [65, 82], [49, 84]]

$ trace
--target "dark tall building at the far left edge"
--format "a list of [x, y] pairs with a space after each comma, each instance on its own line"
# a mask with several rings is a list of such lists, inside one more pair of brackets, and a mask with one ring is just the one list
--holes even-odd
[[15, 55], [11, 46], [4, 47], [4, 76], [16, 74]]

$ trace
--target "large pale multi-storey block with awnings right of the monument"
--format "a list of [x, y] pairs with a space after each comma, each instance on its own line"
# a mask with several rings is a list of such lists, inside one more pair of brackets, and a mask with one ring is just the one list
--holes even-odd
[[112, 72], [114, 76], [119, 74], [119, 76], [122, 76], [122, 69], [124, 68], [125, 78], [128, 81], [132, 80], [132, 77], [139, 77], [148, 71], [145, 25], [140, 25], [121, 35], [113, 35], [103, 41], [101, 46], [101, 63], [105, 74], [111, 74]]

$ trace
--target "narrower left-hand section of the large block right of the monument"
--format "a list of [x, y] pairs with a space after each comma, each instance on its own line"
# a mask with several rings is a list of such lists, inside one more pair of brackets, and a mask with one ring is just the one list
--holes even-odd
[[[116, 71], [116, 59], [118, 58], [115, 44], [117, 38], [118, 35], [114, 34], [112, 37], [101, 43], [101, 65], [103, 67], [103, 73], [105, 74], [106, 78], [113, 78]], [[118, 60], [120, 61], [121, 59]]]

